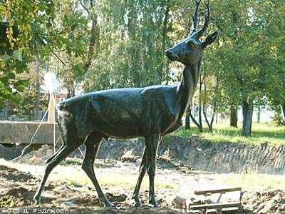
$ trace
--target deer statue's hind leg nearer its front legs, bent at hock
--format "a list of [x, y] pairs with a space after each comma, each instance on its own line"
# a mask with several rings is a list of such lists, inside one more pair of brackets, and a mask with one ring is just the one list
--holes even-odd
[[101, 136], [98, 136], [96, 133], [90, 133], [85, 142], [86, 156], [83, 160], [82, 168], [86, 172], [90, 180], [92, 181], [101, 202], [104, 203], [105, 207], [110, 207], [111, 203], [106, 198], [103, 191], [101, 190], [98, 180], [96, 179], [94, 173], [94, 161], [99, 151], [101, 141], [102, 141]]

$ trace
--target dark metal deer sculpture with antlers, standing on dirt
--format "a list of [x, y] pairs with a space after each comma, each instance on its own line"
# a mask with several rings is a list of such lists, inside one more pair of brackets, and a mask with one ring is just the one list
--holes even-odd
[[101, 202], [110, 207], [111, 203], [101, 190], [93, 168], [100, 142], [103, 138], [144, 137], [145, 148], [133, 199], [135, 206], [139, 206], [140, 185], [147, 172], [150, 181], [149, 203], [158, 207], [155, 200], [157, 147], [162, 136], [182, 126], [182, 116], [190, 104], [199, 80], [203, 50], [218, 36], [216, 31], [207, 36], [205, 41], [199, 41], [207, 29], [210, 18], [209, 0], [207, 0], [204, 26], [197, 31], [200, 1], [195, 0], [196, 8], [192, 16], [190, 34], [179, 44], [165, 51], [171, 61], [179, 61], [185, 65], [182, 79], [177, 86], [97, 91], [68, 98], [58, 104], [58, 126], [63, 145], [46, 162], [45, 173], [34, 196], [36, 204], [41, 201], [41, 192], [51, 170], [84, 143], [86, 156], [82, 168], [92, 180]]

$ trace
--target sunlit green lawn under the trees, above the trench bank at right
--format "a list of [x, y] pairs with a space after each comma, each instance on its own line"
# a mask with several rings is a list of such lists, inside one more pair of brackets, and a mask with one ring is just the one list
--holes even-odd
[[245, 143], [254, 145], [267, 143], [270, 146], [285, 146], [285, 127], [276, 127], [271, 123], [253, 123], [251, 137], [241, 136], [241, 127], [242, 124], [239, 124], [239, 128], [231, 128], [229, 124], [218, 123], [214, 124], [213, 133], [209, 133], [206, 126], [204, 126], [204, 132], [199, 133], [198, 128], [192, 125], [190, 131], [182, 128], [180, 131], [172, 133], [172, 136], [185, 138], [200, 136], [203, 141], [212, 143]]

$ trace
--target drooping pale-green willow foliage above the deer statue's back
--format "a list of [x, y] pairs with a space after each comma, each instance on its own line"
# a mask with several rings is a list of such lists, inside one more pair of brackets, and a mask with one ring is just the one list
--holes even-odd
[[[114, 5], [115, 4], [115, 5]], [[97, 58], [86, 73], [84, 88], [141, 87], [169, 80], [164, 56], [170, 1], [101, 1]], [[166, 20], [165, 20], [166, 19]]]

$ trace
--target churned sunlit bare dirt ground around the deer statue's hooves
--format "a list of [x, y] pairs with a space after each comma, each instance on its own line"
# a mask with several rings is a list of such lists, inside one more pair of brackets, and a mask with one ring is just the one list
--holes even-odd
[[[40, 158], [31, 158], [31, 161], [35, 161], [35, 159]], [[140, 160], [138, 157], [132, 159], [128, 153], [122, 159], [125, 162], [95, 161], [95, 171], [100, 178], [99, 181], [105, 179], [108, 183], [108, 179], [112, 181], [110, 178], [117, 178], [113, 184], [101, 185], [103, 192], [113, 204], [113, 208], [103, 208], [92, 185], [80, 183], [79, 180], [73, 182], [66, 178], [58, 178], [66, 173], [66, 170], [72, 170], [71, 174], [81, 176], [83, 170], [78, 165], [80, 162], [78, 158], [68, 158], [63, 165], [53, 170], [53, 178], [46, 183], [42, 194], [43, 204], [37, 206], [33, 206], [32, 198], [40, 182], [39, 178], [41, 178], [44, 166], [21, 165], [1, 159], [0, 213], [7, 212], [4, 208], [19, 208], [20, 213], [24, 213], [24, 211], [41, 213], [43, 209], [52, 210], [55, 208], [68, 209], [68, 213], [185, 213], [185, 205], [182, 205], [181, 200], [192, 198], [193, 190], [224, 188], [226, 186], [222, 184], [222, 181], [232, 176], [231, 174], [192, 170], [185, 165], [173, 165], [170, 161], [160, 158], [157, 161], [158, 169], [155, 177], [156, 196], [160, 208], [152, 208], [147, 204], [147, 185], [142, 185], [141, 188], [142, 206], [134, 208], [131, 199], [133, 188], [129, 185], [128, 179], [138, 176]], [[36, 163], [41, 163], [41, 160], [37, 160]], [[144, 180], [147, 183], [147, 175]], [[233, 193], [227, 198], [239, 200], [239, 194]], [[284, 190], [271, 189], [243, 191], [242, 205], [243, 208], [238, 213], [285, 213], [285, 192]]]

